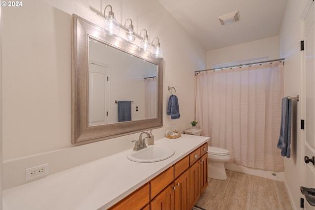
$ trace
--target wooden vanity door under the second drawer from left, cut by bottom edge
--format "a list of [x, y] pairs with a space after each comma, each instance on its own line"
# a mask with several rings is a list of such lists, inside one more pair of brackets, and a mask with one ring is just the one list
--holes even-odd
[[174, 183], [168, 185], [150, 202], [150, 210], [174, 210]]

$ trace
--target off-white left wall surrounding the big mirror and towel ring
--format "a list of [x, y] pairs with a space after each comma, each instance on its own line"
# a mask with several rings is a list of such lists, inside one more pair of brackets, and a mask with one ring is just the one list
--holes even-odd
[[[194, 120], [194, 71], [205, 50], [156, 0], [28, 0], [2, 8], [3, 189], [25, 183], [25, 168], [49, 163], [50, 174], [133, 147], [138, 134], [71, 145], [71, 15], [101, 25], [96, 12], [113, 6], [117, 20], [131, 18], [137, 33], [158, 37], [164, 58], [163, 124], [180, 132]], [[106, 11], [108, 13], [108, 11]], [[185, 43], [185, 44], [183, 44]], [[181, 118], [166, 115], [167, 86], [175, 87]]]

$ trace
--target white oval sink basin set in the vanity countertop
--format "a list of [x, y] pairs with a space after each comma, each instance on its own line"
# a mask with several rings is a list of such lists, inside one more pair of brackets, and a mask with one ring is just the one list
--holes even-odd
[[149, 145], [146, 149], [131, 151], [127, 158], [134, 162], [152, 163], [170, 158], [174, 153], [175, 151], [169, 147]]

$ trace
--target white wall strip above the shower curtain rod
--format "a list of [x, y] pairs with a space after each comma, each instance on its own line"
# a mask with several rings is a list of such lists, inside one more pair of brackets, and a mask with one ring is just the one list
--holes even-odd
[[252, 61], [246, 60], [265, 57], [267, 60], [279, 59], [279, 36], [207, 51], [207, 69], [221, 63], [243, 60], [243, 63], [250, 63]]

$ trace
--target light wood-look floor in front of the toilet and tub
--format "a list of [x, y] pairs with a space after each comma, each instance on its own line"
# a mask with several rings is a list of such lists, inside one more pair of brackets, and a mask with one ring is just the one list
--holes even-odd
[[281, 181], [226, 170], [209, 183], [196, 206], [205, 210], [293, 210]]

